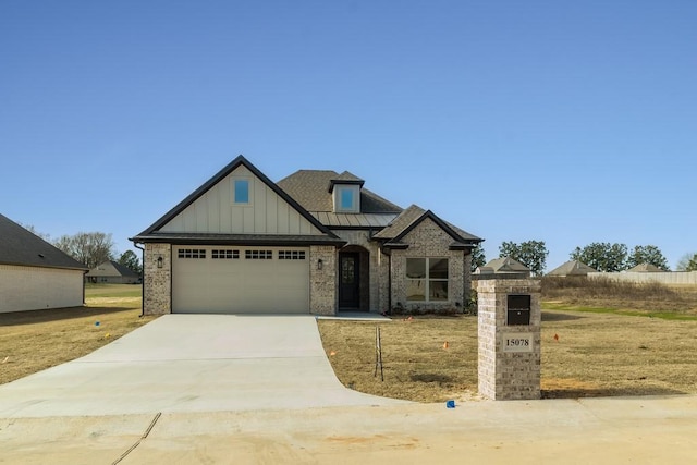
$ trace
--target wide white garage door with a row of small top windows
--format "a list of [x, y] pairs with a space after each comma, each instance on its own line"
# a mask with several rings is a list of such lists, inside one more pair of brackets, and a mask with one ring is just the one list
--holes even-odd
[[309, 252], [173, 246], [172, 311], [308, 314]]

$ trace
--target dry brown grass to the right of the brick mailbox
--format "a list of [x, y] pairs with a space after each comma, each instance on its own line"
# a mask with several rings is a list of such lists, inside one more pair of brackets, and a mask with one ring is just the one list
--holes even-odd
[[548, 397], [697, 393], [697, 321], [542, 311], [542, 390]]

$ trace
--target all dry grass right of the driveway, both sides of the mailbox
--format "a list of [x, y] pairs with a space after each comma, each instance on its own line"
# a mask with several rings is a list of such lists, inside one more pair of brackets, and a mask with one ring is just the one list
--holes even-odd
[[[344, 386], [417, 402], [476, 395], [476, 317], [380, 323], [384, 381], [374, 376], [375, 328], [376, 322], [319, 321]], [[543, 311], [541, 332], [545, 397], [697, 393], [697, 321]]]

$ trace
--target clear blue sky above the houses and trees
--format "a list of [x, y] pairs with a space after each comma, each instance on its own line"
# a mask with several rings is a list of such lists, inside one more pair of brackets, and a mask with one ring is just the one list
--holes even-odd
[[0, 212], [127, 241], [239, 154], [486, 238], [697, 252], [697, 2], [0, 2]]

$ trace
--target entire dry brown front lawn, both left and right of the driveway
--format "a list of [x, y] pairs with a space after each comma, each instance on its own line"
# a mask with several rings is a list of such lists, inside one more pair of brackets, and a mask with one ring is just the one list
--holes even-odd
[[[139, 316], [138, 285], [90, 285], [86, 301], [0, 314], [0, 383], [86, 355], [155, 318]], [[671, 315], [543, 306], [543, 396], [697, 393], [697, 317]], [[476, 317], [381, 322], [384, 381], [375, 376], [376, 322], [318, 325], [338, 378], [351, 389], [418, 402], [477, 396]]]

